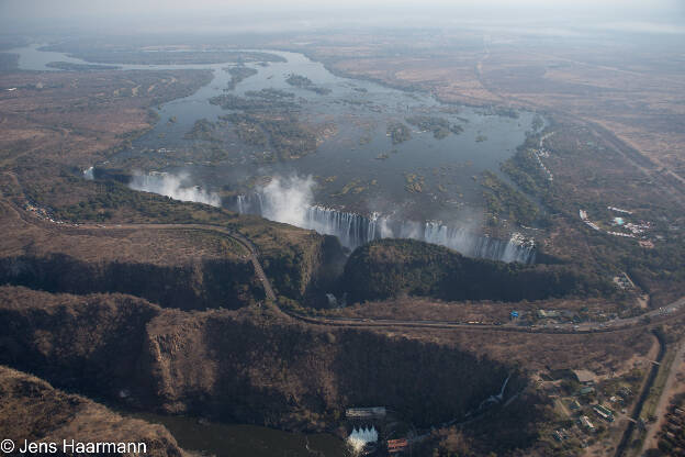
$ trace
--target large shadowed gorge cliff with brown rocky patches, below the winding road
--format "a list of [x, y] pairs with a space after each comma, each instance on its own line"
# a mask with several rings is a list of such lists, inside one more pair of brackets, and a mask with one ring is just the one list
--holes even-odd
[[133, 405], [289, 430], [332, 427], [355, 405], [386, 405], [416, 425], [449, 421], [509, 372], [457, 348], [259, 308], [189, 313], [3, 287], [0, 319], [12, 323], [0, 364], [113, 401], [125, 392]]

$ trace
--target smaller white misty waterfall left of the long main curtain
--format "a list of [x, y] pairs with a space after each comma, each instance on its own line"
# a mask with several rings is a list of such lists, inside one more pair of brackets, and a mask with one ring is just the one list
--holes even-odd
[[200, 186], [193, 186], [186, 174], [171, 175], [155, 171], [149, 175], [137, 174], [133, 177], [128, 187], [134, 190], [159, 193], [175, 200], [194, 201], [211, 204], [212, 207], [221, 207], [221, 197], [218, 194], [207, 192]]

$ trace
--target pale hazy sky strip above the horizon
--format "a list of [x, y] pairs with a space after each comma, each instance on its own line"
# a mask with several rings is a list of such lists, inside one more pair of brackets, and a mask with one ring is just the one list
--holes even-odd
[[280, 23], [281, 29], [296, 30], [338, 23], [443, 26], [469, 21], [565, 21], [609, 30], [684, 33], [685, 0], [0, 0], [0, 24], [5, 30], [26, 22], [97, 29], [146, 21], [155, 21], [156, 27], [167, 21], [170, 30], [189, 31], [203, 24], [244, 30], [263, 30], [269, 24], [268, 30]]

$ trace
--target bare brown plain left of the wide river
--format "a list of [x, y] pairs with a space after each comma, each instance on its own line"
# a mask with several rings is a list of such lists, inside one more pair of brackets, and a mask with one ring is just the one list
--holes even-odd
[[88, 167], [149, 129], [148, 107], [190, 94], [209, 78], [203, 70], [2, 74], [0, 87], [18, 89], [0, 93], [1, 164], [40, 152], [43, 160]]

